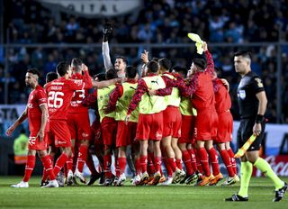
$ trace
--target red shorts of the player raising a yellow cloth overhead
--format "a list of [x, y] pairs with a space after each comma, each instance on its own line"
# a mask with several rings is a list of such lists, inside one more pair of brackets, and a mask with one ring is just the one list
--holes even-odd
[[213, 110], [203, 110], [197, 112], [195, 122], [195, 140], [209, 141], [217, 136], [218, 115]]

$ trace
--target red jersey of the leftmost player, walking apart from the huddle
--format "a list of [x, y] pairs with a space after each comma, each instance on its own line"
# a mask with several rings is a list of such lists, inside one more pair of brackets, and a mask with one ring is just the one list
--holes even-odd
[[[47, 95], [42, 86], [36, 86], [36, 88], [31, 91], [27, 103], [30, 132], [39, 132], [40, 130], [42, 115], [40, 105], [43, 104], [47, 104]], [[46, 125], [46, 128], [47, 127], [48, 125]]]

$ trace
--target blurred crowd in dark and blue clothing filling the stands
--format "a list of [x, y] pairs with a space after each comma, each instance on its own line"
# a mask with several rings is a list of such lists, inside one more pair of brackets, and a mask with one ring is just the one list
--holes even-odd
[[[288, 5], [279, 1], [143, 1], [139, 11], [109, 19], [113, 24], [110, 43], [192, 43], [187, 32], [199, 34], [208, 41], [215, 65], [221, 68], [222, 75], [228, 79], [232, 98], [232, 113], [238, 119], [236, 89], [239, 76], [233, 67], [233, 52], [241, 47], [213, 47], [213, 43], [258, 42], [258, 47], [246, 47], [253, 53], [252, 69], [264, 80], [269, 100], [267, 117], [276, 122], [276, 69], [277, 46], [275, 41], [288, 40]], [[103, 72], [101, 47], [89, 47], [91, 43], [102, 42], [103, 18], [84, 18], [70, 14], [60, 14], [55, 19], [49, 9], [38, 1], [4, 2], [5, 42], [9, 43], [85, 43], [82, 48], [10, 48], [8, 50], [8, 77], [4, 77], [4, 53], [0, 50], [0, 103], [4, 103], [4, 82], [9, 80], [9, 104], [25, 103], [28, 90], [24, 75], [27, 68], [40, 68], [43, 77], [60, 60], [74, 57], [83, 59], [90, 73]], [[5, 35], [6, 35], [5, 34]], [[267, 44], [260, 44], [266, 42]], [[269, 44], [271, 42], [271, 44]], [[144, 44], [145, 46], [145, 44]], [[145, 47], [144, 47], [145, 48]], [[137, 48], [111, 48], [112, 58], [122, 55], [129, 64], [139, 66], [139, 55], [144, 50]], [[166, 57], [174, 65], [190, 67], [195, 48], [152, 48], [152, 57]], [[288, 105], [288, 45], [282, 45], [283, 107]], [[2, 56], [2, 58], [1, 58]], [[112, 59], [114, 60], [114, 59]], [[288, 123], [288, 111], [283, 108], [283, 123]]]

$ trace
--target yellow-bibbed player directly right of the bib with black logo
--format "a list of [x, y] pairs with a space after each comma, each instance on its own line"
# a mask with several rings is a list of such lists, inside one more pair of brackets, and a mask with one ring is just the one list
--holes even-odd
[[[166, 86], [170, 86], [169, 83], [171, 80], [175, 80], [176, 82], [175, 75], [169, 73], [171, 61], [163, 58], [158, 60], [158, 64], [159, 72], [162, 74], [162, 78], [166, 82]], [[178, 183], [185, 177], [185, 172], [182, 169], [181, 162], [182, 152], [177, 144], [178, 138], [181, 134], [182, 123], [181, 113], [179, 110], [181, 97], [179, 90], [172, 86], [166, 89], [159, 89], [156, 91], [156, 94], [165, 95], [166, 109], [163, 112], [163, 139], [161, 141], [161, 147], [165, 152], [167, 170], [171, 169], [174, 174], [177, 174], [173, 177], [167, 178], [164, 185], [169, 185], [172, 182]]]

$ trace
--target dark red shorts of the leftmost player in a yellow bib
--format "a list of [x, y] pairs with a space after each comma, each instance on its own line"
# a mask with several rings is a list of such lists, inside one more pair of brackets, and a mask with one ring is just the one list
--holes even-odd
[[114, 118], [104, 117], [101, 122], [103, 144], [113, 145], [116, 144], [117, 122]]

